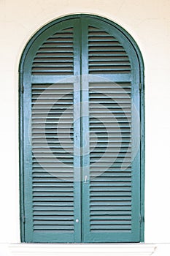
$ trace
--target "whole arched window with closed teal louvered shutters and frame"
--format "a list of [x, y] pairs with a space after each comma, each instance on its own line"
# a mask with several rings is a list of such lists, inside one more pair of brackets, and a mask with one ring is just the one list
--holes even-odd
[[143, 241], [142, 56], [120, 26], [70, 15], [20, 61], [22, 241]]

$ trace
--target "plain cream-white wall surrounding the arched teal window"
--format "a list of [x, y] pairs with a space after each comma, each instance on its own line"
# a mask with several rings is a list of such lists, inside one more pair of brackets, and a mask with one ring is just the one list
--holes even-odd
[[[20, 241], [20, 56], [39, 28], [51, 20], [74, 13], [101, 15], [115, 21], [134, 37], [142, 51], [146, 105], [145, 242], [170, 243], [169, 0], [0, 0], [0, 242]], [[167, 248], [169, 245], [166, 244], [166, 252]]]

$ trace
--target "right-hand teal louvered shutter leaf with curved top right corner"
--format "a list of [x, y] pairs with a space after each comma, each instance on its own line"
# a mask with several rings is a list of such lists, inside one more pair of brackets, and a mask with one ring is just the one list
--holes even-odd
[[82, 124], [89, 134], [83, 154], [83, 238], [139, 241], [139, 67], [117, 29], [93, 18], [84, 20], [83, 29], [88, 104]]

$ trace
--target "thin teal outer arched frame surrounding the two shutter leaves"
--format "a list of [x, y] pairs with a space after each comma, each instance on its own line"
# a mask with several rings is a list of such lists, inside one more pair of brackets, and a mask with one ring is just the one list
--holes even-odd
[[[23, 90], [24, 90], [24, 84], [23, 84], [23, 72], [25, 74], [28, 74], [28, 65], [26, 65], [26, 57], [28, 56], [28, 51], [31, 48], [31, 45], [34, 44], [34, 41], [41, 37], [41, 34], [45, 32], [46, 29], [49, 29], [50, 27], [57, 26], [58, 23], [61, 23], [62, 21], [74, 19], [74, 18], [80, 18], [81, 14], [79, 15], [69, 15], [63, 18], [59, 18], [57, 20], [53, 20], [52, 22], [48, 23], [46, 26], [43, 26], [42, 29], [39, 29], [39, 31], [34, 34], [33, 37], [28, 41], [28, 44], [26, 45], [26, 48], [23, 50], [22, 56], [20, 58], [20, 65], [19, 65], [19, 150], [20, 150], [20, 237], [21, 241], [25, 241], [25, 216], [24, 216], [24, 173], [23, 173]], [[136, 52], [136, 56], [139, 61], [139, 89], [140, 89], [140, 118], [141, 118], [141, 186], [140, 186], [140, 195], [141, 195], [141, 239], [140, 241], [144, 241], [144, 148], [145, 148], [145, 141], [144, 141], [144, 62], [142, 59], [142, 53], [139, 50], [138, 45], [134, 41], [134, 39], [131, 37], [130, 34], [128, 34], [125, 29], [123, 29], [121, 26], [117, 25], [117, 23], [114, 23], [111, 20], [108, 20], [106, 18], [102, 18], [100, 16], [96, 15], [85, 15], [83, 16], [89, 16], [91, 18], [96, 18], [98, 20], [103, 20], [104, 22], [109, 23], [111, 26], [114, 26], [116, 29], [118, 29], [131, 43], [132, 47], [134, 48]], [[24, 70], [24, 67], [26, 69]], [[31, 67], [29, 67], [31, 68]]]

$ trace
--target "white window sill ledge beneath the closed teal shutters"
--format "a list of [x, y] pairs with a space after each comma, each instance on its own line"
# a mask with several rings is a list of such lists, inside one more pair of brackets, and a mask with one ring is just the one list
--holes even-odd
[[149, 256], [155, 244], [10, 244], [15, 256]]

